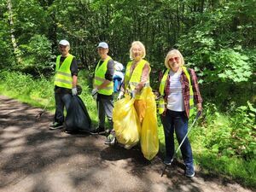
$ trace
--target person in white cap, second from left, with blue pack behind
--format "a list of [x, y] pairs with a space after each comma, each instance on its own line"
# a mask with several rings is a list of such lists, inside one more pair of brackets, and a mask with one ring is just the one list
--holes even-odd
[[[93, 90], [91, 95], [96, 99], [98, 109], [99, 125], [96, 130], [91, 131], [94, 133], [106, 133], [112, 131], [113, 121], [113, 73], [114, 73], [114, 62], [113, 59], [108, 55], [108, 44], [101, 42], [97, 46], [98, 54], [101, 59], [98, 61], [95, 70]], [[108, 131], [105, 130], [105, 116], [108, 118], [110, 127]], [[111, 144], [108, 141], [105, 144]]]

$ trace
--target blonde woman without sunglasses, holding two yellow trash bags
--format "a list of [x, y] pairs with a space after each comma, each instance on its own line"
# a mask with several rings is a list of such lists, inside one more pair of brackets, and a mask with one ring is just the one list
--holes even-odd
[[[139, 100], [139, 96], [143, 87], [149, 86], [149, 73], [151, 70], [148, 61], [143, 59], [145, 56], [146, 49], [143, 43], [140, 41], [132, 42], [130, 49], [131, 61], [126, 66], [125, 84], [122, 85], [118, 96], [118, 99], [120, 99], [125, 93], [128, 93], [136, 99], [134, 107], [141, 123], [145, 113], [145, 104]], [[110, 133], [108, 139], [111, 141], [111, 144], [115, 142], [114, 131]]]

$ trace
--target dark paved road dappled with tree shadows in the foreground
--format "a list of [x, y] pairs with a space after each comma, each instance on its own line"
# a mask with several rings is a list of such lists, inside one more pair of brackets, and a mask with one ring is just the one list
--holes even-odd
[[0, 96], [0, 191], [252, 191], [198, 170], [184, 177], [181, 163], [160, 177], [159, 157], [108, 148], [102, 136], [49, 131], [52, 114], [35, 121], [41, 110]]

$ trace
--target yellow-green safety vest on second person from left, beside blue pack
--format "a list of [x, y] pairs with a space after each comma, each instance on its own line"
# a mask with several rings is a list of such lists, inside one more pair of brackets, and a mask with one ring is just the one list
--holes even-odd
[[[93, 87], [101, 85], [106, 79], [105, 74], [108, 70], [108, 61], [112, 60], [110, 56], [107, 57], [106, 60], [103, 61], [102, 65], [100, 66], [100, 62], [98, 62], [96, 69], [95, 69], [95, 75], [94, 75], [94, 83]], [[111, 96], [113, 94], [113, 82], [111, 81], [107, 87], [102, 88], [101, 90], [98, 90], [98, 93], [105, 95], [105, 96]]]

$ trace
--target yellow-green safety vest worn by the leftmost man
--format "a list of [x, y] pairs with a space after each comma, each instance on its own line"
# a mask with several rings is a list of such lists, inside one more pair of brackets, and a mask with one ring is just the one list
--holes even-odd
[[72, 89], [72, 74], [70, 66], [73, 60], [73, 55], [69, 54], [62, 62], [60, 67], [61, 55], [57, 56], [55, 67], [55, 85], [67, 89]]

